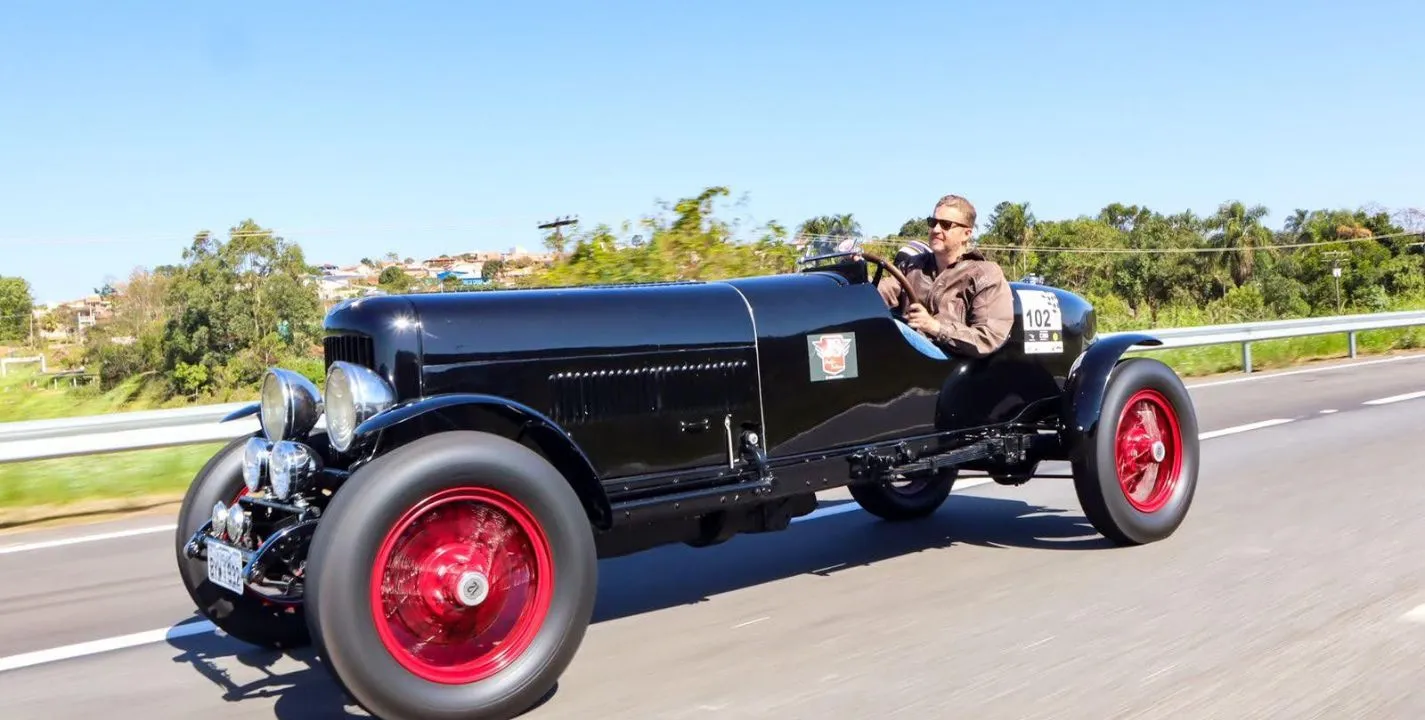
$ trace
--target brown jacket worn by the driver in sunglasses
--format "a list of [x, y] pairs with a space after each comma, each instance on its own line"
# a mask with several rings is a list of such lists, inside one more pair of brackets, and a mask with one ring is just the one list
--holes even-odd
[[[983, 356], [999, 349], [1015, 325], [1015, 297], [1005, 271], [978, 251], [939, 271], [935, 255], [925, 252], [905, 269], [925, 309], [940, 322], [940, 335], [931, 338], [958, 355]], [[911, 307], [901, 282], [886, 274], [876, 287], [886, 305]]]

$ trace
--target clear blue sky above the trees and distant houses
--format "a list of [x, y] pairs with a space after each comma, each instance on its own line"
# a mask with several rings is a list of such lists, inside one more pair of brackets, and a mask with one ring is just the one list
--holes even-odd
[[10, 0], [0, 275], [74, 299], [247, 218], [314, 264], [537, 251], [710, 185], [748, 227], [866, 234], [948, 192], [1425, 208], [1422, 27], [1414, 0]]

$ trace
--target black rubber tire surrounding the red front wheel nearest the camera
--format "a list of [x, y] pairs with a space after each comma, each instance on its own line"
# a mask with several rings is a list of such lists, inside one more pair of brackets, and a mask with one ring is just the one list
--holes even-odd
[[[529, 644], [492, 674], [430, 679], [408, 669], [382, 640], [372, 612], [376, 563], [388, 535], [415, 508], [442, 493], [477, 493], [500, 503], [510, 516], [524, 515], [523, 528], [540, 562], [537, 580], [547, 590], [547, 614], [530, 626]], [[489, 506], [487, 506], [489, 508]], [[475, 520], [449, 526], [446, 547], [463, 545]], [[455, 529], [460, 528], [456, 533]], [[516, 545], [507, 545], [513, 560]], [[502, 555], [502, 557], [504, 557]], [[415, 560], [420, 562], [420, 560]], [[462, 577], [455, 567], [446, 577]], [[428, 575], [426, 579], [437, 577]], [[496, 573], [487, 576], [499, 585]], [[569, 482], [540, 455], [509, 439], [479, 432], [446, 432], [412, 442], [358, 469], [336, 492], [312, 540], [308, 559], [308, 603], [312, 634], [322, 639], [322, 664], [352, 699], [385, 720], [513, 717], [536, 706], [557, 683], [583, 643], [598, 580], [593, 530]], [[456, 586], [442, 586], [456, 592]], [[492, 590], [486, 602], [499, 597]], [[539, 595], [539, 593], [536, 593]], [[420, 603], [422, 597], [413, 597]], [[536, 606], [539, 603], [534, 603]], [[512, 607], [529, 609], [514, 602]], [[425, 607], [423, 605], [419, 607]], [[416, 605], [406, 610], [418, 616]], [[450, 613], [472, 613], [450, 605]], [[430, 619], [426, 619], [430, 620]], [[450, 630], [447, 616], [425, 632]], [[519, 643], [513, 643], [519, 646]], [[459, 673], [452, 673], [459, 674]]]

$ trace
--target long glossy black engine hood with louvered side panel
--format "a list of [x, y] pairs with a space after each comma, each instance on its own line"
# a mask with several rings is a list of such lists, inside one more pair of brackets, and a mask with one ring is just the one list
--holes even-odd
[[[473, 394], [527, 405], [561, 428], [600, 478], [725, 465], [724, 421], [760, 423], [752, 319], [725, 284], [452, 292], [403, 302], [409, 309], [386, 305], [409, 312], [399, 324], [362, 325], [376, 348], [419, 348], [418, 364], [399, 365], [409, 375], [395, 384], [399, 399]], [[369, 314], [372, 305], [359, 309]], [[328, 325], [356, 326], [346, 314], [335, 311]]]

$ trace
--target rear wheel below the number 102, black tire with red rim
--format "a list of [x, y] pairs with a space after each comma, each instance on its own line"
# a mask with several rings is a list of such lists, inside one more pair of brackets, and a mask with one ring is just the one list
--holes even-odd
[[[1127, 412], [1130, 403], [1156, 411], [1159, 433], [1139, 425], [1137, 411]], [[1156, 472], [1157, 482], [1140, 500], [1130, 500], [1119, 478], [1120, 435], [1137, 435], [1127, 449], [1157, 461], [1147, 469]], [[1157, 442], [1163, 443], [1160, 458]], [[1197, 492], [1198, 445], [1197, 412], [1177, 374], [1151, 358], [1120, 362], [1109, 378], [1099, 423], [1073, 452], [1073, 485], [1084, 516], [1117, 545], [1144, 545], [1171, 536], [1187, 518]]]

